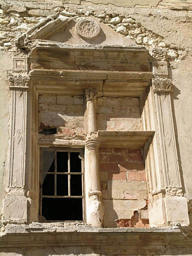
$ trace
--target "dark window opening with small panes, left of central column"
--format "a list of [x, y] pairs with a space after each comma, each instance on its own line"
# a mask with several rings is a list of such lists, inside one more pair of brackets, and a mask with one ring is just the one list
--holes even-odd
[[40, 149], [42, 220], [83, 220], [81, 150]]

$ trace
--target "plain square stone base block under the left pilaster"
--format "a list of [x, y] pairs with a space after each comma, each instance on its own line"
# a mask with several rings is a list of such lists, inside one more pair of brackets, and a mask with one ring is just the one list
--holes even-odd
[[3, 202], [3, 221], [26, 223], [27, 198], [23, 195], [6, 195]]

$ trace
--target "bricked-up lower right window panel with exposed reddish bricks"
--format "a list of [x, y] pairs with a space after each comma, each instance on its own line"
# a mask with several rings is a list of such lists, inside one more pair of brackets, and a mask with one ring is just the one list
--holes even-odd
[[139, 210], [139, 218], [147, 219], [146, 177], [140, 149], [100, 148], [99, 160], [104, 227], [116, 227], [115, 220], [120, 219], [124, 221], [121, 226], [128, 227], [134, 211]]

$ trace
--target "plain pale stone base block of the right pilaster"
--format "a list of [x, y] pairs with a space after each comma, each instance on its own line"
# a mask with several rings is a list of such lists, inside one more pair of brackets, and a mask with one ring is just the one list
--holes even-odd
[[148, 204], [150, 227], [189, 225], [187, 199], [184, 196], [166, 196]]

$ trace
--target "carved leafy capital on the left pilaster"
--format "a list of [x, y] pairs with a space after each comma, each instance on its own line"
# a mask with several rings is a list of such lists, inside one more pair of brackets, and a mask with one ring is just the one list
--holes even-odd
[[29, 75], [11, 73], [8, 75], [9, 89], [27, 90], [29, 88], [29, 80]]

